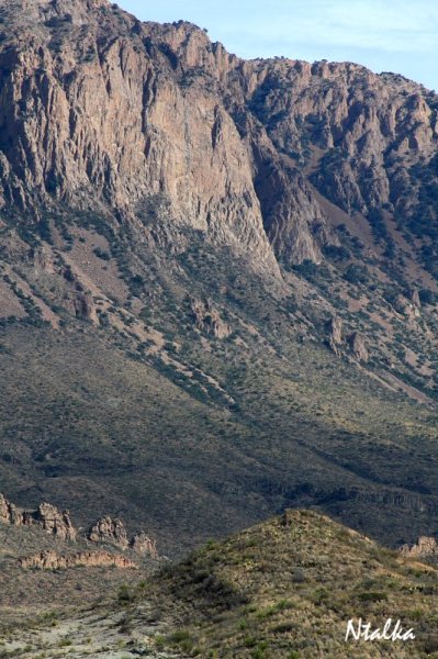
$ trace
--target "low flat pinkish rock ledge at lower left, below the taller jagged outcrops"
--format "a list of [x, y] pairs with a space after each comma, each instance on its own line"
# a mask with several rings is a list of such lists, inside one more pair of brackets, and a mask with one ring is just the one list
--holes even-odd
[[68, 568], [120, 568], [123, 570], [138, 570], [137, 563], [108, 551], [79, 551], [71, 556], [63, 556], [53, 550], [42, 551], [34, 556], [20, 559], [20, 566], [34, 570], [66, 570]]

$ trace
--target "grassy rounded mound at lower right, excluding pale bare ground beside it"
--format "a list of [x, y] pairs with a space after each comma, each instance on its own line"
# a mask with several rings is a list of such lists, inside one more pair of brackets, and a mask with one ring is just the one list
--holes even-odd
[[[192, 644], [200, 656], [426, 657], [437, 651], [436, 585], [434, 568], [322, 515], [288, 511], [171, 566], [153, 592], [184, 607], [169, 646]], [[346, 643], [349, 619], [375, 629], [390, 616], [416, 639]]]

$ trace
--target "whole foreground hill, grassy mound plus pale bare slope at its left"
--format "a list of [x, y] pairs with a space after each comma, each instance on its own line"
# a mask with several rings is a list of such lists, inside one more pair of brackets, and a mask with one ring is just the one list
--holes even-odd
[[[209, 543], [117, 602], [4, 635], [14, 657], [372, 658], [438, 656], [434, 567], [327, 517], [288, 511]], [[345, 641], [347, 622], [400, 618], [415, 640]], [[23, 647], [27, 645], [25, 649]], [[8, 656], [8, 655], [4, 655]]]

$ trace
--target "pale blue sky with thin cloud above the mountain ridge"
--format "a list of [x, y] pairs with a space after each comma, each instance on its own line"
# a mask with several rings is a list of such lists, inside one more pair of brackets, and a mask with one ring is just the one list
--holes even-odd
[[356, 62], [438, 90], [438, 0], [119, 0], [143, 21], [191, 21], [239, 57]]

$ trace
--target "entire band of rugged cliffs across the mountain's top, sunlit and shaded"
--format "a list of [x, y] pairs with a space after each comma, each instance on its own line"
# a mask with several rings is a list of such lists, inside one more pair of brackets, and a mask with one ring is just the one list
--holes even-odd
[[319, 263], [338, 245], [314, 186], [347, 213], [411, 216], [420, 200], [435, 212], [415, 176], [436, 181], [437, 100], [401, 77], [243, 62], [193, 25], [142, 24], [106, 2], [9, 0], [1, 16], [4, 211], [142, 217], [153, 203], [172, 231], [271, 273], [272, 250]]

